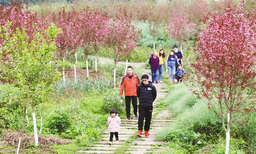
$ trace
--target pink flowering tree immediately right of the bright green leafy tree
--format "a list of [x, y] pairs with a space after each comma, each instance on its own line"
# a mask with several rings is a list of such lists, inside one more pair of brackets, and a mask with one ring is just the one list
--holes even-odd
[[[81, 22], [78, 18], [78, 13], [76, 11], [66, 12], [63, 9], [57, 15], [52, 14], [47, 22], [54, 22], [56, 26], [62, 29], [62, 33], [58, 34], [58, 37], [54, 40], [58, 49], [56, 50], [56, 55], [58, 55], [64, 62], [64, 59], [69, 54], [73, 54], [74, 50], [81, 46], [82, 41], [79, 37], [81, 32]], [[65, 85], [65, 72], [64, 66], [62, 69], [63, 83]]]

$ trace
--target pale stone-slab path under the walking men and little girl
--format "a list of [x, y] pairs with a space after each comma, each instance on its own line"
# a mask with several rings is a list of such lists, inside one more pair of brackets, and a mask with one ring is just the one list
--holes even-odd
[[[143, 70], [143, 72], [149, 72], [150, 70]], [[168, 90], [165, 83], [154, 84], [157, 90], [157, 97], [153, 103], [153, 115], [149, 130], [149, 137], [136, 138], [138, 133], [138, 118], [131, 116], [131, 120], [122, 119], [120, 132], [118, 132], [119, 143], [115, 143], [115, 137], [113, 138], [113, 145], [108, 145], [110, 133], [108, 130], [104, 131], [100, 141], [96, 142], [92, 147], [86, 148], [87, 150], [79, 150], [78, 153], [86, 154], [112, 154], [120, 148], [126, 148], [124, 152], [126, 154], [145, 154], [147, 152], [160, 152], [164, 148], [164, 142], [155, 141], [155, 134], [160, 129], [164, 128], [168, 124], [174, 121], [172, 113], [168, 110], [162, 110], [156, 114], [156, 104], [162, 102], [166, 97]], [[145, 122], [145, 121], [144, 121]], [[144, 131], [143, 131], [144, 133]], [[131, 141], [127, 143], [126, 141]]]

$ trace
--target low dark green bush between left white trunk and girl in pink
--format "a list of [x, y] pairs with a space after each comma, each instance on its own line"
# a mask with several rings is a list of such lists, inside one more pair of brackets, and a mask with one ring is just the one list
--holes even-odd
[[57, 110], [48, 118], [48, 128], [53, 134], [65, 132], [71, 125], [71, 119], [67, 111]]

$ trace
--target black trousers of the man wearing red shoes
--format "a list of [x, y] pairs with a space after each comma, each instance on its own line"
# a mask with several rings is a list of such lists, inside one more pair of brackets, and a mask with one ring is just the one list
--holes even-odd
[[150, 128], [150, 122], [152, 118], [153, 106], [143, 107], [139, 105], [139, 120], [138, 120], [138, 130], [143, 130], [143, 122], [145, 118], [144, 130], [148, 131]]

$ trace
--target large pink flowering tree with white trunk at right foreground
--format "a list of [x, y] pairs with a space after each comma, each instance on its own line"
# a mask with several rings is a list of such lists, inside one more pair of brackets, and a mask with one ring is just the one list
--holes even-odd
[[206, 17], [192, 64], [190, 86], [221, 118], [226, 154], [231, 124], [256, 111], [256, 14], [241, 10], [242, 4], [238, 9], [228, 6], [223, 14]]

